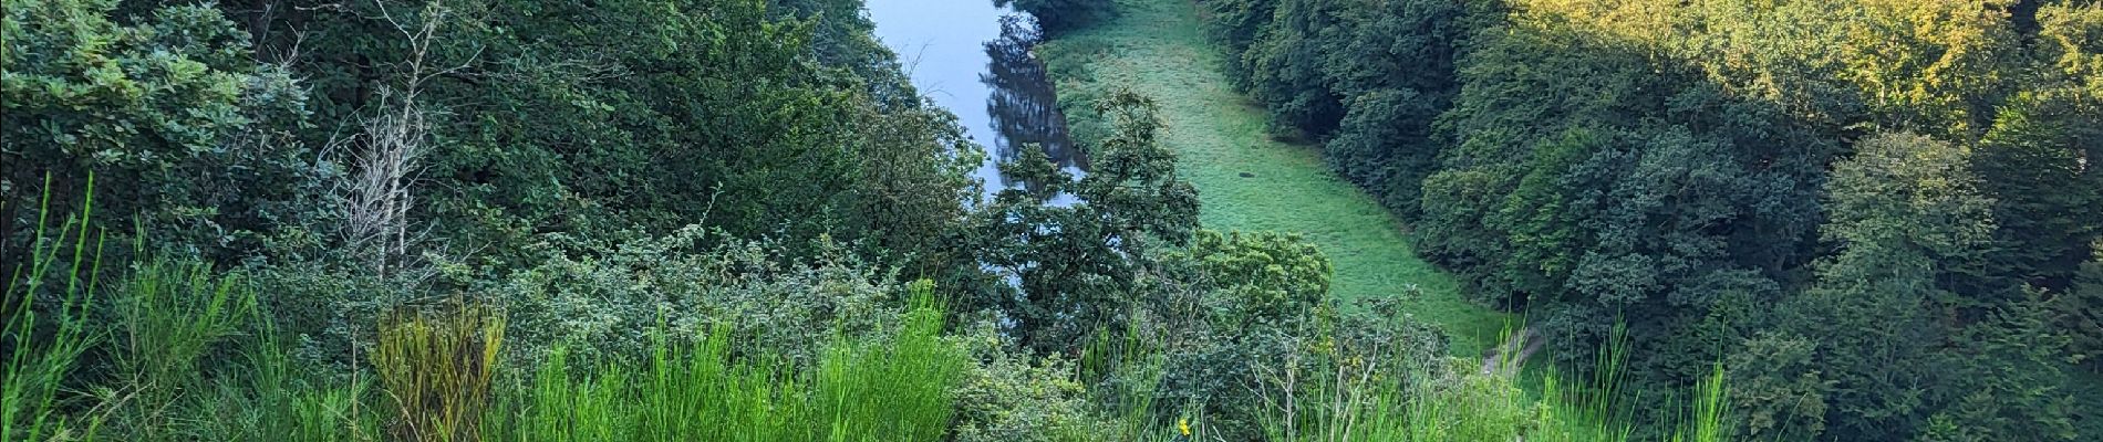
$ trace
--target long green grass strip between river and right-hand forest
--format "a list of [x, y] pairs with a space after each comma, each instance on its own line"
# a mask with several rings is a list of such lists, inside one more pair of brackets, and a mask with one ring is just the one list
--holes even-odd
[[[1218, 230], [1302, 233], [1335, 262], [1342, 300], [1403, 297], [1405, 312], [1455, 337], [1453, 352], [1495, 346], [1508, 314], [1470, 304], [1459, 283], [1415, 256], [1401, 220], [1338, 178], [1310, 145], [1272, 140], [1264, 109], [1234, 90], [1199, 6], [1188, 0], [1119, 0], [1119, 17], [1039, 46], [1068, 119], [1087, 103], [1131, 88], [1161, 103], [1165, 142]], [[1077, 121], [1085, 132], [1087, 121]]]

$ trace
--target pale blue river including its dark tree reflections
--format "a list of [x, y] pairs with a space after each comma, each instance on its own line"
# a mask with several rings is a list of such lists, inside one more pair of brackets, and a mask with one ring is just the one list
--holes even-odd
[[999, 161], [1020, 157], [1030, 145], [1068, 174], [1087, 170], [1087, 155], [1066, 138], [1052, 80], [1030, 54], [1041, 34], [1026, 13], [993, 0], [869, 0], [869, 19], [913, 86], [957, 113], [965, 134], [986, 147], [976, 176], [988, 197], [1024, 184], [1001, 176]]

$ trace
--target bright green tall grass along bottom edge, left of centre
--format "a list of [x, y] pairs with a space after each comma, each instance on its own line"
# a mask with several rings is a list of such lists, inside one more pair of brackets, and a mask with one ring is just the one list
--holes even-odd
[[488, 440], [942, 440], [953, 388], [969, 364], [942, 337], [932, 285], [892, 337], [839, 337], [805, 369], [770, 354], [732, 354], [728, 325], [694, 346], [658, 339], [648, 367], [570, 367], [557, 350], [532, 388], [486, 419]]

